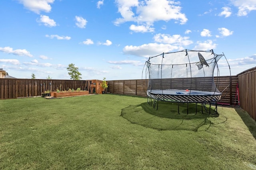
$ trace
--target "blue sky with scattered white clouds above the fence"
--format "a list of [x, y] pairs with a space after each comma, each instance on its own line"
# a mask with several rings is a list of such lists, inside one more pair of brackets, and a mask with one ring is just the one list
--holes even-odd
[[[16, 78], [141, 79], [148, 57], [214, 50], [256, 66], [255, 0], [1, 0], [0, 68]], [[229, 75], [219, 61], [220, 75]]]

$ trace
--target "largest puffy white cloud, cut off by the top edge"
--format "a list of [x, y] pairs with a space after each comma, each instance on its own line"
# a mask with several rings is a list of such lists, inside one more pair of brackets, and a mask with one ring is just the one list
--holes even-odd
[[115, 25], [127, 21], [148, 25], [160, 20], [176, 20], [180, 21], [180, 24], [184, 24], [188, 20], [186, 15], [181, 13], [180, 3], [172, 0], [144, 0], [141, 2], [138, 0], [116, 0], [116, 3], [122, 18], [116, 19]]

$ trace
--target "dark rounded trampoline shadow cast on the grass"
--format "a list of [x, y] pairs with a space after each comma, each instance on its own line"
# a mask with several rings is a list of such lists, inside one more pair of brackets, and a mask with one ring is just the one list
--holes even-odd
[[[205, 110], [202, 114], [201, 108], [198, 108], [196, 113], [195, 104], [189, 104], [188, 108], [187, 114], [187, 104], [180, 104], [179, 114], [176, 103], [159, 102], [158, 110], [156, 110], [145, 102], [122, 109], [121, 116], [131, 123], [152, 129], [188, 131], [207, 131], [211, 124], [215, 124], [212, 120], [219, 116], [217, 113], [208, 114]], [[214, 109], [211, 111], [214, 113]]]

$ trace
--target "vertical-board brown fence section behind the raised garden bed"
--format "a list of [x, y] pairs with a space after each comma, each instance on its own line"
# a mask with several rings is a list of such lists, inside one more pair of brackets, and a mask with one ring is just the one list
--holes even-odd
[[[61, 85], [61, 87], [60, 87]], [[86, 80], [0, 79], [0, 99], [41, 96], [45, 90], [88, 89]]]

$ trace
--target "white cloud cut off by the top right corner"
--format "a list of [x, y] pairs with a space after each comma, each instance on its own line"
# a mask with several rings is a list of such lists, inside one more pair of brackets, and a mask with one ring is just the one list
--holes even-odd
[[256, 10], [255, 0], [230, 0], [230, 2], [238, 7], [238, 16], [247, 16], [252, 10]]

